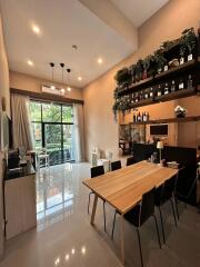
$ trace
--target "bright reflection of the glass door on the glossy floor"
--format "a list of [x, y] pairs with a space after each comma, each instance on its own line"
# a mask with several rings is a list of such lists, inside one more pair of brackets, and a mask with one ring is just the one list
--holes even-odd
[[38, 230], [69, 217], [73, 212], [76, 182], [72, 164], [42, 168], [37, 174]]

